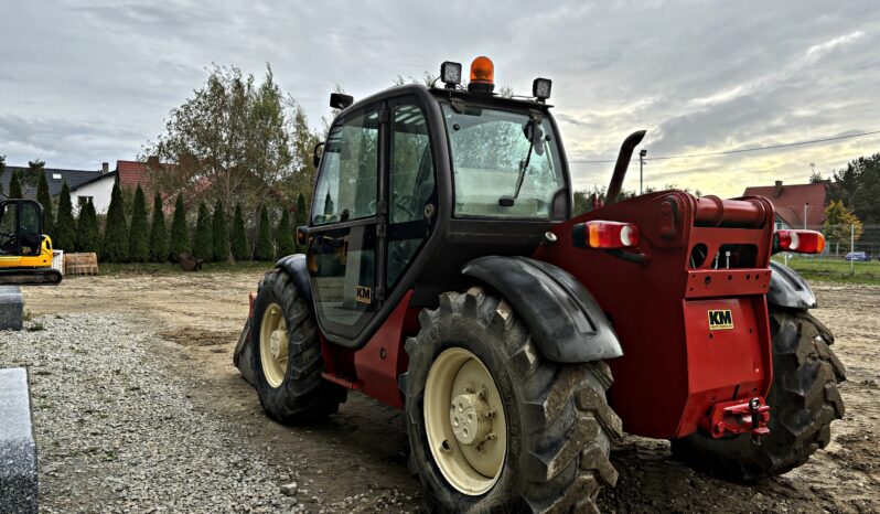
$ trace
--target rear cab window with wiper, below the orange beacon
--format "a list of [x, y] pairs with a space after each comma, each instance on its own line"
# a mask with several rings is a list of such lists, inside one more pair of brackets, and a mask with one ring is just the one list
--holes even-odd
[[[565, 188], [556, 131], [545, 116], [532, 148], [524, 113], [443, 105], [452, 152], [458, 217], [550, 219], [552, 200]], [[530, 149], [530, 151], [529, 151]], [[521, 182], [518, 194], [517, 183]]]

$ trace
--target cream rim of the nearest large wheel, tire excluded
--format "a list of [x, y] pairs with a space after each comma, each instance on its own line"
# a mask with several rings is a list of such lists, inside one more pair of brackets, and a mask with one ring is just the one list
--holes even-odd
[[453, 347], [437, 356], [425, 385], [431, 456], [459, 492], [480, 495], [501, 476], [507, 422], [495, 381], [480, 358]]

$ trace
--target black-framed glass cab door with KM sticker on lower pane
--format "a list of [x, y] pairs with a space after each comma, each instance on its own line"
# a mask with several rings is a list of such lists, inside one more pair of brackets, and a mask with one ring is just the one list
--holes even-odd
[[[321, 328], [344, 343], [380, 307], [385, 246], [380, 170], [387, 120], [383, 104], [337, 118], [321, 158], [308, 231], [312, 297]], [[382, 232], [380, 232], [382, 231]]]

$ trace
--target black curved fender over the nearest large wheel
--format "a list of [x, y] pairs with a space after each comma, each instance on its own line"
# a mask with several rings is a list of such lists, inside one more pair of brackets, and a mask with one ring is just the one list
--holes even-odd
[[480, 257], [462, 274], [504, 296], [523, 317], [538, 352], [550, 361], [582, 363], [623, 355], [602, 308], [567, 271], [526, 257]]

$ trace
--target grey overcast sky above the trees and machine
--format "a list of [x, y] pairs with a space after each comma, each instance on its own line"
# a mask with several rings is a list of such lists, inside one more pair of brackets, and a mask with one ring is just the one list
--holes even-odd
[[[552, 78], [571, 160], [648, 157], [880, 130], [880, 2], [118, 2], [0, 0], [0, 154], [97, 169], [133, 159], [212, 63], [270, 63], [313, 126], [340, 84], [355, 98], [476, 55], [530, 92]], [[650, 162], [646, 184], [739, 195], [806, 182], [880, 151], [880, 135], [733, 157]], [[612, 164], [572, 163], [576, 185]], [[637, 165], [625, 188], [637, 189]]]

